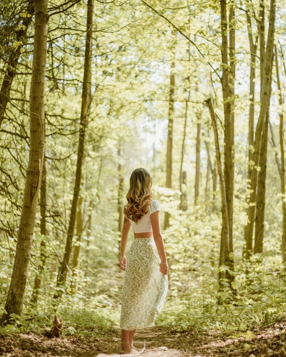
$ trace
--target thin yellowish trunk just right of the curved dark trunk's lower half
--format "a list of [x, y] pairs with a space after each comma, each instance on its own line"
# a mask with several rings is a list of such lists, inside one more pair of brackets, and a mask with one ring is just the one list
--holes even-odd
[[80, 255], [80, 247], [81, 247], [81, 235], [82, 235], [82, 197], [78, 197], [78, 204], [77, 204], [77, 213], [76, 213], [76, 243], [74, 245], [73, 250], [73, 259], [72, 259], [72, 278], [70, 289], [71, 293], [74, 294], [77, 290], [77, 283], [78, 283], [78, 267], [79, 267], [79, 255]]

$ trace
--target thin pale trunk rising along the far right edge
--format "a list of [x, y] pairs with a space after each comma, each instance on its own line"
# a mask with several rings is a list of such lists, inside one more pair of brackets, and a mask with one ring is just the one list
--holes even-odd
[[[279, 67], [278, 67], [278, 57], [277, 57], [277, 47], [275, 45], [275, 66], [276, 66], [276, 78], [277, 78], [277, 89], [279, 97], [279, 105], [282, 108], [283, 98], [281, 94], [280, 78], [279, 78]], [[280, 139], [280, 153], [281, 153], [281, 198], [282, 198], [282, 263], [286, 261], [286, 204], [285, 204], [285, 160], [284, 160], [284, 140], [283, 140], [283, 113], [279, 112], [279, 139]]]

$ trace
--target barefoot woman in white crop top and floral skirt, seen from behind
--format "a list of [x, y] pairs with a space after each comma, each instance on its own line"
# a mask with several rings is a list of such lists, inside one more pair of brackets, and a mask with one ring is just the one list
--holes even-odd
[[[124, 206], [120, 269], [126, 270], [122, 289], [120, 354], [137, 353], [133, 346], [136, 329], [154, 326], [168, 290], [168, 263], [160, 232], [160, 205], [152, 198], [152, 179], [142, 168], [130, 177]], [[134, 234], [128, 262], [125, 248], [130, 227]]]

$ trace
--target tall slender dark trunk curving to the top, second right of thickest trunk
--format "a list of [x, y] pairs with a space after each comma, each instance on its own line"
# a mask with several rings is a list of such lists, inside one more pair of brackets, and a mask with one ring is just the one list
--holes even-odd
[[85, 127], [87, 124], [87, 113], [91, 102], [91, 54], [92, 54], [92, 23], [93, 23], [93, 0], [87, 1], [87, 19], [86, 19], [86, 41], [85, 41], [85, 54], [84, 54], [84, 72], [81, 96], [81, 112], [79, 124], [79, 138], [77, 149], [77, 161], [75, 171], [75, 182], [73, 197], [70, 209], [69, 224], [67, 230], [67, 239], [64, 250], [63, 260], [61, 262], [60, 270], [57, 277], [56, 292], [54, 299], [60, 299], [62, 289], [59, 289], [65, 283], [66, 273], [68, 270], [69, 258], [72, 248], [72, 238], [75, 226], [77, 200], [79, 196], [80, 182], [81, 182], [81, 167], [84, 156], [84, 137]]

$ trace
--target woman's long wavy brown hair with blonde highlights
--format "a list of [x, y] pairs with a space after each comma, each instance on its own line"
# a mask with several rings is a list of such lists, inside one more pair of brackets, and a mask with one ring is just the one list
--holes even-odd
[[135, 169], [130, 176], [130, 188], [127, 192], [127, 204], [124, 206], [124, 214], [131, 221], [137, 222], [148, 210], [147, 206], [153, 197], [152, 179], [147, 170]]

